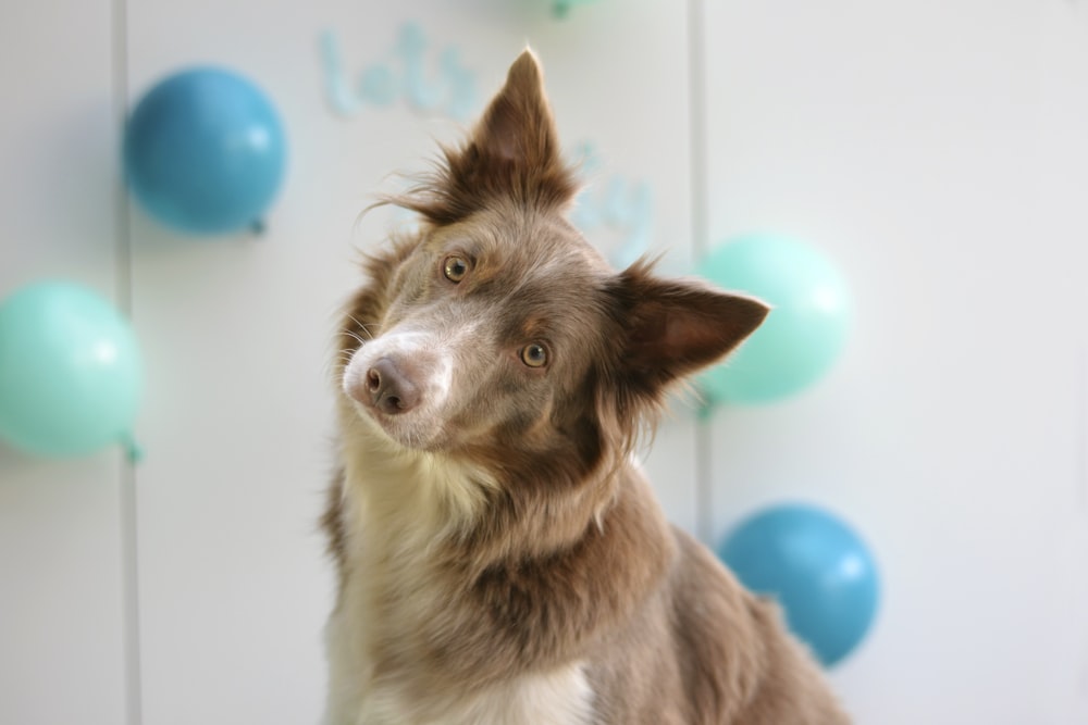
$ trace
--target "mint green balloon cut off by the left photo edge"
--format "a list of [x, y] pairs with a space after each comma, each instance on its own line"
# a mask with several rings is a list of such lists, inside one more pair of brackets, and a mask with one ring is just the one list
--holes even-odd
[[42, 282], [0, 303], [0, 438], [75, 457], [131, 441], [143, 390], [132, 327], [79, 285]]

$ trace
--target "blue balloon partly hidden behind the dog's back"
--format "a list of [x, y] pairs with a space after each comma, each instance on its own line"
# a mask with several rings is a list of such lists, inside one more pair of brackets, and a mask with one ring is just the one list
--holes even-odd
[[876, 562], [849, 526], [821, 509], [771, 507], [742, 522], [718, 555], [745, 587], [778, 599], [790, 629], [825, 665], [846, 657], [876, 617]]

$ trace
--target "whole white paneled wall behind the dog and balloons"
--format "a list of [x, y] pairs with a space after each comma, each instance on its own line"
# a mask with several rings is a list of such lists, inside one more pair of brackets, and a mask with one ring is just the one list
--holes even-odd
[[[828, 379], [718, 411], [709, 495], [690, 410], [647, 467], [712, 538], [794, 498], [864, 533], [883, 609], [833, 672], [858, 722], [1088, 721], [1088, 8], [601, 0], [558, 22], [545, 4], [3, 11], [0, 296], [63, 276], [131, 298], [148, 391], [134, 476], [114, 451], [0, 448], [0, 723], [316, 722], [329, 339], [355, 250], [394, 221], [357, 215], [457, 128], [405, 103], [337, 115], [319, 38], [356, 77], [408, 20], [460, 49], [478, 103], [530, 41], [568, 146], [603, 160], [595, 189], [652, 187], [666, 268], [778, 230], [845, 272], [857, 323]], [[261, 239], [193, 240], [119, 203], [121, 109], [207, 62], [286, 122]]]

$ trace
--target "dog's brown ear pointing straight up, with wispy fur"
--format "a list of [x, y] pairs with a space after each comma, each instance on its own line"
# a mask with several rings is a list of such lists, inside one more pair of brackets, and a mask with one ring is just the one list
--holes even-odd
[[469, 140], [443, 150], [445, 163], [425, 185], [396, 203], [435, 224], [465, 218], [496, 199], [562, 208], [578, 191], [560, 158], [544, 75], [529, 49], [510, 66]]

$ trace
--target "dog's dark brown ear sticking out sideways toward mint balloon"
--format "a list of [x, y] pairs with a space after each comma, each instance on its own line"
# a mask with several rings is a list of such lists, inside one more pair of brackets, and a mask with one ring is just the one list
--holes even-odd
[[662, 279], [636, 263], [616, 293], [625, 309], [623, 365], [647, 392], [717, 362], [763, 323], [770, 309], [693, 280]]

